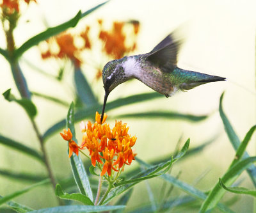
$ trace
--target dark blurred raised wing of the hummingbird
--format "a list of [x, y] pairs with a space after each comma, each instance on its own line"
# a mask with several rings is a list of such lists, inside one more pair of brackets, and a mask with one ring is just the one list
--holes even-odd
[[175, 41], [173, 33], [171, 33], [148, 53], [147, 60], [164, 72], [172, 72], [177, 65], [177, 56], [181, 43], [180, 40]]

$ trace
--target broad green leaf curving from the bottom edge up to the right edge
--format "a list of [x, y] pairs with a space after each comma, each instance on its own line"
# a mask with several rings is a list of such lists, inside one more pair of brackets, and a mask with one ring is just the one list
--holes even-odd
[[[256, 161], [256, 157], [248, 157], [246, 159], [243, 159], [232, 168], [230, 168], [225, 175], [221, 178], [223, 183], [227, 185], [228, 187], [232, 185], [235, 180], [241, 175], [241, 173], [252, 164], [252, 162]], [[216, 204], [221, 200], [223, 195], [225, 194], [225, 189], [223, 189], [219, 182], [214, 186], [214, 188], [211, 190], [211, 192], [208, 194], [207, 198], [205, 199], [204, 203], [201, 206], [200, 212], [205, 212], [207, 210], [212, 210], [216, 206]]]

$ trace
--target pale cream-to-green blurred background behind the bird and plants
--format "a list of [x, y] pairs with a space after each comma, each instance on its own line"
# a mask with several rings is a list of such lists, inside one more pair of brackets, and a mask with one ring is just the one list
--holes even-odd
[[[14, 31], [17, 47], [47, 27], [61, 24], [74, 17], [79, 10], [85, 12], [99, 3], [102, 1], [74, 0], [70, 2], [63, 0], [60, 3], [60, 1], [37, 0], [37, 4], [24, 6], [19, 24]], [[100, 54], [99, 47], [97, 47], [99, 44], [94, 36], [99, 31], [99, 19], [103, 20], [103, 26], [106, 29], [111, 28], [114, 21], [138, 20], [140, 22], [136, 49], [129, 54], [150, 52], [173, 29], [182, 25], [180, 33], [185, 38], [185, 42], [180, 51], [179, 67], [227, 78], [225, 82], [198, 86], [187, 93], [177, 93], [169, 99], [163, 97], [111, 111], [108, 111], [108, 104], [106, 106], [106, 113], [109, 115], [108, 122], [113, 125], [115, 119], [118, 119], [128, 123], [129, 133], [138, 137], [135, 146], [136, 153], [138, 157], [147, 162], [171, 154], [179, 140], [183, 145], [186, 139], [190, 138], [190, 148], [193, 148], [214, 139], [214, 142], [203, 152], [193, 155], [189, 161], [175, 163], [172, 168], [172, 175], [180, 173], [180, 180], [195, 185], [203, 191], [211, 189], [216, 184], [235, 154], [218, 113], [221, 93], [225, 91], [223, 108], [240, 139], [243, 139], [250, 127], [256, 123], [255, 8], [255, 1], [244, 3], [244, 1], [228, 0], [113, 0], [81, 19], [76, 28], [68, 31], [78, 33], [86, 26], [90, 26], [90, 36], [96, 43], [95, 49], [84, 52], [84, 63], [81, 69], [100, 103], [103, 102], [104, 89], [102, 80], [97, 80], [97, 72], [104, 67], [107, 61]], [[129, 31], [128, 28], [124, 30], [126, 29]], [[3, 31], [0, 31], [0, 47], [6, 48]], [[74, 100], [72, 91], [75, 90], [72, 77], [74, 68], [67, 61], [61, 63], [56, 59], [43, 60], [41, 53], [44, 49], [45, 43], [41, 43], [29, 49], [21, 58], [20, 67], [27, 79], [29, 90], [58, 97], [68, 103], [72, 102]], [[2, 56], [0, 56], [0, 65], [0, 92], [3, 93], [8, 88], [12, 88], [12, 93], [19, 97], [10, 66]], [[60, 68], [64, 68], [65, 76], [62, 81], [56, 81], [36, 71], [32, 65], [50, 75], [56, 75]], [[132, 80], [121, 84], [111, 92], [108, 101], [150, 91], [152, 90], [140, 81]], [[65, 118], [67, 114], [68, 107], [40, 97], [33, 97], [32, 100], [38, 109], [36, 123], [42, 133], [54, 123]], [[202, 122], [195, 123], [186, 120], [136, 119], [118, 116], [118, 114], [151, 110], [195, 115], [209, 114], [210, 116]], [[4, 100], [3, 96], [0, 96], [0, 120], [1, 134], [39, 150], [35, 133], [24, 110], [17, 104]], [[77, 139], [81, 141], [82, 134], [79, 133], [78, 125], [76, 130]], [[46, 146], [55, 175], [60, 178], [70, 175], [67, 146], [60, 135], [56, 133], [47, 139]], [[255, 136], [248, 145], [247, 152], [255, 155]], [[24, 157], [19, 152], [3, 145], [0, 145], [0, 166], [1, 169], [12, 169], [18, 173], [45, 175], [45, 168], [42, 164], [31, 161], [29, 157]], [[243, 173], [240, 179], [243, 180], [244, 187], [253, 187], [247, 173]], [[158, 178], [150, 180], [149, 183], [157, 199], [157, 196], [161, 195], [159, 186], [163, 185], [163, 182]], [[2, 196], [17, 189], [23, 189], [26, 185], [29, 185], [29, 182], [17, 182], [0, 175]], [[51, 196], [46, 194], [48, 191], [52, 193]], [[175, 189], [173, 194], [182, 194], [182, 192]], [[56, 205], [53, 197], [54, 193], [50, 186], [38, 187], [25, 196], [18, 197], [15, 201], [39, 209]], [[229, 194], [224, 200], [231, 197], [234, 196]], [[139, 184], [132, 194], [128, 208], [131, 210], [147, 201], [146, 185]], [[231, 209], [236, 212], [253, 212], [253, 205], [255, 206], [253, 198], [237, 196], [237, 202], [232, 205]], [[191, 212], [193, 211], [191, 209]]]

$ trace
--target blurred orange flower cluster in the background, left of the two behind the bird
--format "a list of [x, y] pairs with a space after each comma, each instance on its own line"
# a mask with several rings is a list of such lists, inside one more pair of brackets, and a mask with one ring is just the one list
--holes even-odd
[[[90, 28], [87, 27], [84, 32], [82, 32], [80, 35], [71, 35], [70, 33], [61, 33], [60, 35], [51, 38], [49, 40], [46, 40], [47, 45], [48, 45], [48, 50], [46, 52], [41, 53], [41, 56], [43, 59], [47, 58], [69, 58], [76, 67], [80, 67], [82, 60], [79, 58], [79, 54], [81, 51], [84, 49], [90, 49], [91, 48], [91, 43], [88, 38], [88, 32]], [[79, 48], [75, 45], [74, 43], [74, 38], [75, 37], [80, 37], [83, 38], [84, 40], [84, 46]], [[51, 42], [56, 42], [60, 51], [58, 52], [52, 52], [50, 47], [51, 47]]]

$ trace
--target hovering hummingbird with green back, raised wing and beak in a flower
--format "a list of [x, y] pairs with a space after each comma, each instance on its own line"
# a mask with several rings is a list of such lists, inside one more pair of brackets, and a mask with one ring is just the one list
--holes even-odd
[[225, 77], [207, 75], [200, 72], [183, 70], [177, 67], [180, 41], [173, 39], [173, 33], [146, 54], [125, 56], [109, 61], [103, 68], [102, 79], [105, 90], [102, 118], [109, 93], [129, 79], [138, 79], [153, 90], [172, 96], [176, 91], [186, 91], [196, 86], [225, 81]]

